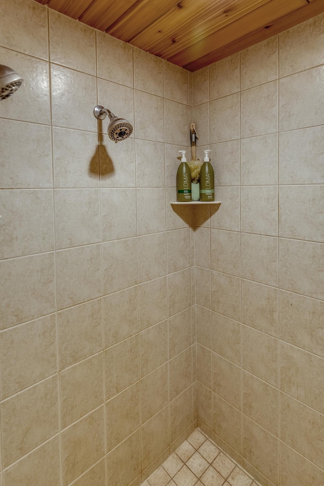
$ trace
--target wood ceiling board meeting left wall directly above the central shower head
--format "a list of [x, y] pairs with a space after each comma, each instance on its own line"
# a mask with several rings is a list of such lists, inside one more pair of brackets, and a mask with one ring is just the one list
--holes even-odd
[[106, 32], [121, 41], [130, 42], [133, 37], [163, 16], [179, 3], [179, 0], [139, 0], [119, 17]]

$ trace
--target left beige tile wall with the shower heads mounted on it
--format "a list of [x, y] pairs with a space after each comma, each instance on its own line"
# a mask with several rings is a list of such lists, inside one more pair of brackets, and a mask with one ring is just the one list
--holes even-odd
[[[196, 419], [193, 233], [170, 206], [192, 76], [0, 3], [24, 78], [0, 104], [0, 484], [136, 486]], [[110, 141], [97, 104], [134, 135]]]

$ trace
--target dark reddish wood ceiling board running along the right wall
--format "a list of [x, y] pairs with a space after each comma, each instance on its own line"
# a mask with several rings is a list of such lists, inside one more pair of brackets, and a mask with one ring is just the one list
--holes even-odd
[[324, 2], [322, 0], [312, 0], [308, 8], [305, 8], [305, 6], [301, 7], [300, 9], [297, 9], [294, 12], [275, 20], [270, 24], [269, 28], [266, 29], [265, 26], [263, 26], [260, 29], [257, 29], [244, 37], [239, 37], [236, 39], [236, 41], [211, 52], [207, 56], [200, 57], [196, 61], [193, 61], [183, 67], [188, 71], [194, 72], [197, 69], [209, 66], [216, 61], [220, 61], [225, 57], [231, 56], [242, 49], [247, 49], [248, 47], [258, 44], [261, 41], [265, 41], [265, 39], [294, 27], [297, 24], [305, 22], [306, 20], [309, 20], [323, 12]]

